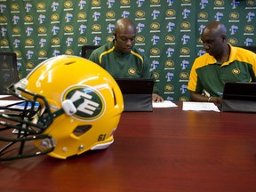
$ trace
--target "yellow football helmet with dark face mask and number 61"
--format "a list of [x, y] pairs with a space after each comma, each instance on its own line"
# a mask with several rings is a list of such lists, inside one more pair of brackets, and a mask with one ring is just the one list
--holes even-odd
[[[0, 123], [4, 125], [0, 141], [8, 142], [0, 149], [0, 160], [43, 154], [66, 159], [108, 148], [124, 110], [114, 78], [99, 65], [76, 56], [45, 60], [9, 92], [25, 101], [19, 116], [16, 108], [8, 109], [15, 113], [0, 115], [8, 120]], [[13, 130], [16, 133], [10, 134]], [[36, 145], [35, 152], [26, 152], [27, 141], [28, 146], [31, 141]], [[19, 146], [17, 156], [6, 156], [15, 145]]]

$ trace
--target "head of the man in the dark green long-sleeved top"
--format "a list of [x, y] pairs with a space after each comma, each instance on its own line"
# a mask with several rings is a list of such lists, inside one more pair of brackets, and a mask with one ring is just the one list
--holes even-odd
[[116, 50], [130, 53], [136, 37], [136, 27], [132, 20], [127, 18], [117, 20], [113, 35], [115, 36]]

